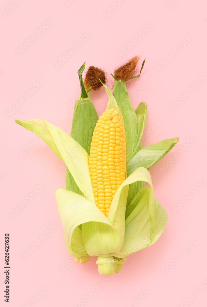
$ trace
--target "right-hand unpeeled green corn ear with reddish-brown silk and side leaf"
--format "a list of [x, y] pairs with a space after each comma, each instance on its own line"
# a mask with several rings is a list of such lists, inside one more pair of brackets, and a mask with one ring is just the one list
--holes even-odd
[[[130, 169], [132, 165], [134, 166], [134, 170], [138, 167], [149, 169], [168, 153], [179, 140], [179, 138], [164, 140], [157, 144], [150, 145], [152, 148], [146, 146], [146, 150], [142, 150], [141, 138], [147, 117], [146, 103], [141, 102], [137, 109], [134, 110], [125, 84], [128, 80], [139, 78], [145, 60], [142, 63], [139, 75], [133, 76], [138, 60], [139, 57], [135, 56], [126, 64], [116, 68], [114, 76], [112, 75], [115, 79], [113, 84], [113, 95], [124, 118], [127, 146], [127, 177], [131, 174]], [[148, 155], [146, 161], [145, 154]], [[127, 206], [143, 188], [144, 182], [142, 181], [137, 181], [129, 185]]]

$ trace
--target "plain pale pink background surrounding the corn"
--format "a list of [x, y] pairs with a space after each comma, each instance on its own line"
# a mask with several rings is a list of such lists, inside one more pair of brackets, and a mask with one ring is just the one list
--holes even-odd
[[[12, 1], [1, 1], [2, 306], [6, 305], [2, 282], [6, 232], [10, 234], [10, 306], [20, 307], [27, 303], [38, 307], [46, 304], [206, 306], [207, 210], [206, 185], [202, 178], [207, 176], [204, 98], [207, 3], [180, 0], [172, 1], [175, 4], [169, 6], [170, 0], [159, 3], [125, 0], [120, 1], [116, 10], [114, 3], [117, 1], [37, 0], [20, 1], [13, 7]], [[6, 9], [10, 12], [5, 13]], [[34, 34], [45, 21], [49, 21], [49, 25], [43, 33]], [[87, 40], [75, 47], [84, 34], [89, 36]], [[31, 45], [18, 55], [16, 50], [31, 36], [34, 37]], [[178, 45], [184, 40], [180, 49]], [[125, 48], [128, 51], [123, 55], [121, 52]], [[71, 56], [56, 68], [55, 62], [70, 49], [73, 50]], [[148, 107], [143, 146], [166, 138], [179, 137], [180, 141], [150, 169], [155, 196], [169, 215], [164, 233], [153, 246], [134, 254], [120, 274], [103, 282], [95, 258], [86, 264], [74, 264], [65, 246], [55, 200], [56, 189], [64, 188], [65, 167], [43, 140], [15, 124], [14, 117], [44, 118], [70, 133], [74, 99], [80, 92], [77, 71], [83, 62], [86, 61], [86, 68], [90, 65], [104, 68], [108, 72], [106, 84], [112, 88], [110, 73], [114, 67], [135, 55], [141, 55], [141, 61], [146, 58], [141, 77], [128, 83], [133, 106], [136, 108], [139, 102], [146, 101]], [[167, 56], [171, 60], [167, 60]], [[159, 68], [164, 60], [166, 64]], [[197, 84], [199, 76], [203, 79]], [[24, 93], [35, 83], [39, 83], [39, 88], [27, 99]], [[138, 86], [140, 91], [135, 93]], [[170, 105], [186, 91], [186, 99], [179, 100], [181, 103], [171, 110]], [[91, 98], [100, 115], [108, 100], [104, 89], [92, 93]], [[20, 99], [24, 99], [24, 103], [10, 114]], [[34, 142], [31, 143], [34, 146], [20, 156], [30, 142]], [[167, 162], [169, 166], [163, 171]], [[199, 185], [201, 182], [203, 185]], [[44, 188], [28, 200], [28, 194], [35, 191], [37, 185]], [[197, 185], [197, 191], [193, 192]], [[9, 214], [25, 200], [27, 205], [10, 219]], [[173, 207], [182, 200], [184, 205], [175, 213]], [[51, 224], [57, 226], [53, 232], [49, 230]], [[50, 234], [47, 238], [44, 237], [46, 231]], [[40, 245], [24, 259], [22, 254], [37, 240]], [[195, 243], [189, 247], [191, 240]], [[172, 261], [176, 263], [177, 257], [180, 261], [175, 265]], [[67, 269], [63, 272], [61, 267], [65, 266]], [[41, 287], [45, 287], [45, 292], [31, 301]], [[195, 292], [197, 288], [201, 293]], [[142, 290], [147, 293], [143, 294]]]

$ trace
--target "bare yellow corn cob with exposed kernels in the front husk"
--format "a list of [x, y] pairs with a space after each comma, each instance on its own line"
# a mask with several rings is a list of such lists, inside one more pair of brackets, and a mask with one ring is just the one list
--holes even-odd
[[126, 176], [125, 130], [118, 110], [106, 109], [98, 119], [89, 170], [96, 206], [108, 216], [113, 196]]

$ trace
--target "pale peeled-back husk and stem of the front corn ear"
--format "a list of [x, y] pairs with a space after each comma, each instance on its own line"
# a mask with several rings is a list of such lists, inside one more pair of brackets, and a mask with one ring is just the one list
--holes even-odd
[[[118, 109], [109, 88], [105, 88], [109, 95], [107, 108]], [[120, 185], [106, 217], [95, 205], [86, 150], [63, 130], [44, 119], [16, 122], [35, 132], [50, 146], [61, 161], [65, 162], [84, 194], [81, 196], [62, 188], [56, 191], [66, 246], [75, 261], [83, 263], [90, 256], [96, 256], [99, 274], [113, 275], [114, 272], [120, 272], [128, 255], [157, 241], [165, 228], [168, 215], [153, 196], [152, 180], [146, 168], [135, 169]], [[150, 150], [153, 151], [152, 148]], [[157, 161], [157, 155], [151, 151], [150, 155]], [[151, 165], [153, 158], [148, 161]], [[128, 163], [131, 172], [130, 161]], [[129, 185], [136, 181], [147, 182], [150, 187], [140, 191], [126, 207]]]

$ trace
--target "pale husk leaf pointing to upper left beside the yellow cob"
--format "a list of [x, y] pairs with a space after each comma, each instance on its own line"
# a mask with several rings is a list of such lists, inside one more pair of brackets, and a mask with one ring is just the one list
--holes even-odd
[[33, 131], [65, 162], [83, 194], [95, 204], [88, 153], [71, 136], [44, 119], [15, 120], [19, 125]]

